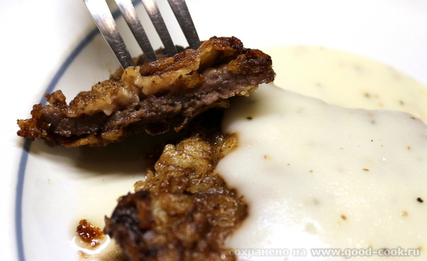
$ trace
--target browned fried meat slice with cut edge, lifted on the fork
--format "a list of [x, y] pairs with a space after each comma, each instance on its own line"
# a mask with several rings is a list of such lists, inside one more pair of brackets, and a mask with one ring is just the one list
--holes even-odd
[[18, 121], [18, 135], [77, 147], [106, 145], [140, 131], [180, 131], [207, 109], [227, 107], [228, 98], [248, 96], [274, 79], [271, 58], [244, 48], [235, 37], [212, 37], [197, 50], [141, 61], [78, 93], [69, 104], [61, 91], [46, 94], [48, 105], [36, 104], [32, 118]]

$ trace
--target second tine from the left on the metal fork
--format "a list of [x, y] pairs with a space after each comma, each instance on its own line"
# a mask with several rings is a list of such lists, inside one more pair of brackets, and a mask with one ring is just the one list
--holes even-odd
[[130, 31], [132, 31], [133, 36], [135, 36], [136, 41], [138, 42], [140, 48], [143, 50], [145, 57], [148, 61], [157, 60], [153, 46], [151, 46], [150, 41], [148, 40], [147, 34], [143, 25], [136, 14], [135, 7], [133, 7], [132, 1], [130, 0], [115, 0], [115, 3], [120, 10], [120, 13], [123, 15], [126, 23], [128, 24]]

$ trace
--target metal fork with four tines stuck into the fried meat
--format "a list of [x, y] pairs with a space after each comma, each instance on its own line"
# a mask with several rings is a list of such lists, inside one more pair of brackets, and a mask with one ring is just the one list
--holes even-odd
[[[111, 50], [113, 50], [115, 56], [118, 58], [120, 65], [123, 68], [135, 66], [132, 56], [130, 56], [128, 48], [125, 46], [122, 36], [120, 36], [117, 25], [113, 19], [113, 15], [111, 14], [106, 1], [83, 1], [91, 12], [93, 20], [95, 21], [96, 26], [98, 26], [99, 31], [101, 31], [101, 34], [106, 39]], [[158, 5], [155, 0], [140, 1], [143, 2], [145, 10], [147, 11], [148, 16], [150, 16], [165, 50], [168, 52], [168, 56], [175, 55], [177, 53], [177, 49], [175, 48], [175, 44], [173, 44], [173, 40], [170, 37], [165, 21], [160, 14], [160, 10], [158, 9]], [[133, 2], [131, 0], [115, 0], [115, 2], [120, 13], [128, 24], [130, 31], [132, 31], [133, 36], [135, 36], [136, 41], [145, 54], [145, 57], [148, 58], [148, 61], [156, 61], [157, 56], [155, 55], [153, 46], [151, 46], [148, 36], [145, 34], [145, 30], [140, 23], [138, 14], [136, 14], [135, 7], [133, 6]], [[197, 49], [200, 46], [200, 39], [197, 35], [195, 25], [192, 22], [190, 11], [188, 11], [187, 4], [185, 4], [185, 0], [168, 0], [168, 2], [173, 14], [175, 14], [175, 17], [178, 20], [178, 24], [180, 24], [190, 48]]]

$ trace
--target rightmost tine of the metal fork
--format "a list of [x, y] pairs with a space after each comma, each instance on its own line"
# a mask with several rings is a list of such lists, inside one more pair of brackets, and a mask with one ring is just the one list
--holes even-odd
[[175, 14], [175, 17], [180, 24], [185, 39], [192, 49], [197, 49], [200, 46], [200, 39], [194, 23], [192, 22], [190, 11], [188, 10], [185, 0], [168, 0], [170, 8]]

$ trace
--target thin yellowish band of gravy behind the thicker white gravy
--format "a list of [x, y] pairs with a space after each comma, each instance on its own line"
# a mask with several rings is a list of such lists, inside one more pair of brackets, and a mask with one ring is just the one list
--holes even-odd
[[427, 122], [427, 88], [371, 58], [314, 46], [277, 46], [274, 83], [344, 108], [404, 111]]

